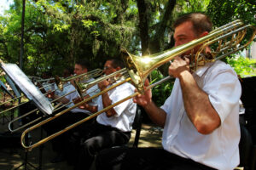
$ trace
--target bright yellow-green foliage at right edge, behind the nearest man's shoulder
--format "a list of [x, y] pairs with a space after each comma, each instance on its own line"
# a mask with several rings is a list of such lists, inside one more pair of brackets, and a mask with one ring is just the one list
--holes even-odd
[[256, 76], [256, 59], [248, 59], [238, 56], [227, 58], [227, 63], [231, 65], [236, 71], [236, 74], [240, 75], [241, 77]]

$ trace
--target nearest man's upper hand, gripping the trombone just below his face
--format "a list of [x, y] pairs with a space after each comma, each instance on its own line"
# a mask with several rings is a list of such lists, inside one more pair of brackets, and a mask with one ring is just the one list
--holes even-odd
[[169, 66], [169, 75], [178, 78], [183, 71], [189, 71], [189, 59], [176, 57]]

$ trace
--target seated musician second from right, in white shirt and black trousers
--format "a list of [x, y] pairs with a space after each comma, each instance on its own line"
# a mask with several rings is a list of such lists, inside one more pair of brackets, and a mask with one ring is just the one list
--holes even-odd
[[[124, 63], [119, 59], [108, 59], [104, 65], [104, 73], [109, 75], [119, 71]], [[104, 80], [98, 84], [104, 90], [117, 82], [111, 84]], [[113, 105], [120, 99], [134, 94], [135, 88], [129, 82], [113, 88], [102, 94], [97, 100], [97, 105], [85, 104], [84, 108], [91, 112], [101, 111], [108, 105]], [[136, 115], [137, 105], [132, 99], [126, 100], [112, 109], [103, 112], [96, 118], [96, 122], [89, 127], [79, 129], [73, 133], [67, 147], [70, 149], [68, 156], [73, 158], [75, 169], [88, 169], [100, 150], [128, 143], [131, 138], [131, 125]]]

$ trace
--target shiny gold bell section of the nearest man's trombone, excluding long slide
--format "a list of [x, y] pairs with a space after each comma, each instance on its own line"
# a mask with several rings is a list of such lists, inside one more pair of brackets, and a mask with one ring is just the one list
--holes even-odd
[[[239, 47], [239, 43], [245, 36], [248, 28], [253, 30], [252, 35], [246, 44]], [[176, 48], [168, 49], [159, 54], [138, 57], [123, 49], [122, 55], [132, 82], [134, 82], [137, 90], [140, 93], [143, 93], [143, 82], [148, 77], [148, 74], [160, 65], [174, 59], [175, 56], [193, 50], [196, 46], [201, 45], [201, 48], [196, 54], [191, 54], [192, 58], [194, 58], [192, 59], [194, 62], [190, 64], [190, 68], [195, 71], [198, 66], [214, 62], [218, 59], [223, 59], [227, 55], [234, 54], [242, 48], [246, 48], [247, 45], [253, 41], [255, 34], [256, 28], [254, 26], [244, 25], [241, 20], [235, 20], [211, 31], [205, 37], [177, 46]], [[210, 55], [204, 54], [204, 49], [214, 42], [218, 42], [218, 48], [215, 50], [212, 49], [212, 54]]]

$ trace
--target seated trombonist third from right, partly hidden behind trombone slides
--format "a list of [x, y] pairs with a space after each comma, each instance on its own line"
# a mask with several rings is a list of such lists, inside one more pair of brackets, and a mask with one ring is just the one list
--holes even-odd
[[[77, 75], [83, 74], [87, 72], [87, 68], [85, 67], [85, 62], [80, 61], [81, 63], [76, 63], [75, 65], [75, 69], [74, 72]], [[77, 68], [80, 68], [79, 71], [77, 71]], [[63, 71], [64, 75], [63, 77], [70, 77], [72, 75], [72, 73], [70, 71], [68, 71], [67, 69], [65, 69]], [[90, 81], [94, 80], [93, 78], [90, 78]], [[84, 80], [84, 81], [88, 81], [88, 80]], [[90, 88], [87, 90], [87, 93], [90, 91], [92, 92], [91, 94], [88, 95], [94, 95], [96, 93], [96, 89], [98, 89], [96, 86]], [[59, 97], [61, 97], [61, 95], [67, 94], [65, 97], [59, 99]], [[83, 94], [83, 95], [87, 95], [87, 94]], [[63, 85], [63, 91], [57, 92], [57, 93], [49, 93], [48, 95], [49, 98], [51, 99], [58, 99], [58, 102], [61, 102], [63, 105], [67, 105], [67, 107], [63, 107], [61, 110], [65, 110], [71, 106], [73, 106], [73, 99], [78, 98], [79, 97], [79, 93], [76, 91], [76, 88], [73, 87], [73, 84], [71, 82], [66, 82]], [[90, 105], [96, 105], [94, 103], [94, 101], [90, 101]], [[55, 113], [59, 113], [60, 110], [55, 111]], [[84, 110], [84, 109], [80, 109], [78, 107], [74, 108], [71, 111], [67, 111], [66, 113], [64, 113], [63, 115], [61, 115], [60, 117], [56, 118], [55, 120], [48, 122], [44, 125], [44, 129], [45, 131], [50, 135], [53, 133], [56, 133], [60, 130], [62, 130], [63, 128], [72, 125], [75, 122], [78, 122], [82, 119], [84, 119], [87, 116], [90, 116], [90, 111]], [[90, 122], [93, 122], [93, 120], [91, 120]], [[86, 123], [90, 123], [90, 122], [86, 122]], [[55, 139], [52, 139], [52, 145], [53, 145], [53, 150], [55, 150], [58, 154], [57, 156], [55, 156], [54, 159], [51, 160], [51, 162], [55, 163], [55, 162], [59, 162], [59, 161], [64, 161], [65, 157], [63, 154], [63, 140], [65, 140], [68, 136], [70, 132], [61, 134], [60, 136], [56, 137]]]

